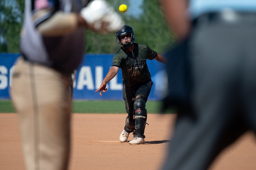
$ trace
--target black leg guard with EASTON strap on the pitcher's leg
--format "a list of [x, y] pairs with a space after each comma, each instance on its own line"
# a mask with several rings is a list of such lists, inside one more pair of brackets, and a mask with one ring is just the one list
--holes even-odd
[[137, 98], [134, 102], [134, 110], [135, 114], [133, 115], [133, 119], [135, 119], [135, 133], [134, 137], [144, 136], [146, 121], [147, 121], [147, 110], [145, 109], [146, 103], [143, 98]]

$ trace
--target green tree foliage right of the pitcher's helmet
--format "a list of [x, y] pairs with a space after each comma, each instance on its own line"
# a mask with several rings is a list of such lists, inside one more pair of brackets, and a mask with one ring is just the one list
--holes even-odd
[[166, 23], [159, 1], [143, 0], [143, 15], [129, 20], [133, 25], [135, 41], [146, 44], [158, 53], [164, 53], [174, 43], [174, 35]]

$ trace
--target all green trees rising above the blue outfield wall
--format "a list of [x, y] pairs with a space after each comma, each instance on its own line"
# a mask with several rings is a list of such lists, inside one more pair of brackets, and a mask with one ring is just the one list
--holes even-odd
[[[0, 52], [18, 53], [20, 30], [23, 23], [25, 0], [0, 1]], [[140, 0], [138, 0], [140, 1]], [[135, 42], [146, 44], [158, 53], [164, 53], [166, 48], [174, 43], [174, 34], [168, 28], [164, 19], [161, 5], [156, 0], [141, 0], [142, 13], [139, 16], [120, 13], [119, 6], [126, 4], [128, 10], [129, 0], [108, 0], [114, 10], [125, 21], [125, 25], [133, 28]], [[115, 38], [115, 32], [106, 35], [86, 30], [86, 53], [109, 53], [118, 51], [120, 45]]]

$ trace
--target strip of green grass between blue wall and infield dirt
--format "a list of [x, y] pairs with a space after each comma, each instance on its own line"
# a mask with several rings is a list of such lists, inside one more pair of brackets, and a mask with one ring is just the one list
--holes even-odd
[[[147, 113], [160, 113], [161, 102], [147, 101]], [[10, 100], [0, 100], [0, 113], [15, 113]], [[73, 101], [73, 113], [126, 113], [124, 101]], [[172, 111], [168, 111], [172, 113]]]

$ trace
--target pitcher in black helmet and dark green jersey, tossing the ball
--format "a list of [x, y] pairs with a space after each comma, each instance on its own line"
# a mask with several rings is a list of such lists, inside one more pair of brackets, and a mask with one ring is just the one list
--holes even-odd
[[116, 31], [116, 39], [121, 48], [113, 57], [113, 65], [103, 79], [101, 86], [95, 92], [106, 92], [106, 84], [118, 73], [119, 68], [123, 75], [123, 99], [125, 102], [126, 117], [124, 130], [119, 140], [126, 142], [128, 136], [133, 132], [134, 139], [129, 144], [145, 143], [145, 126], [147, 120], [146, 102], [153, 82], [147, 67], [146, 60], [156, 59], [165, 63], [165, 57], [158, 54], [144, 44], [134, 43], [133, 29], [124, 25]]

